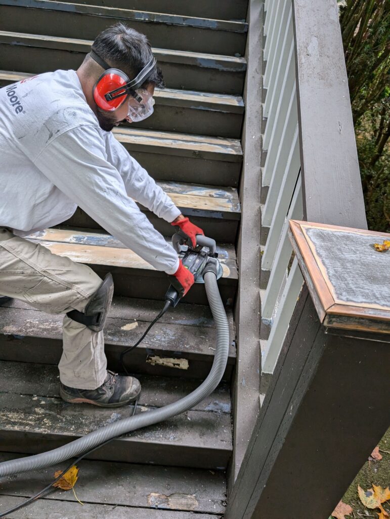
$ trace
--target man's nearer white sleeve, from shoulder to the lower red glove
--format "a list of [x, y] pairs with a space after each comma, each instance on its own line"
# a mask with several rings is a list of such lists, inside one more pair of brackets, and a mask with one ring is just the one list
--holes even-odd
[[79, 126], [53, 139], [35, 165], [99, 225], [157, 270], [174, 274], [177, 253], [127, 196], [105, 142], [93, 126]]

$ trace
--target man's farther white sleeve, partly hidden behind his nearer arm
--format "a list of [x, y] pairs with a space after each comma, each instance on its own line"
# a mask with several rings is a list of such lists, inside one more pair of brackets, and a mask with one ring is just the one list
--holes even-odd
[[105, 134], [107, 160], [117, 168], [123, 178], [128, 196], [167, 222], [180, 214], [174, 202], [158, 186], [149, 173], [127, 152], [111, 132]]

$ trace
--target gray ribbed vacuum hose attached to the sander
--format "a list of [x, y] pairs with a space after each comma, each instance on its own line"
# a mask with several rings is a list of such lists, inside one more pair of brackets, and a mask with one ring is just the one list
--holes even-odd
[[216, 347], [211, 371], [206, 380], [201, 383], [199, 387], [177, 402], [165, 405], [158, 409], [153, 409], [153, 411], [147, 413], [139, 413], [129, 418], [117, 420], [113, 424], [100, 427], [99, 429], [96, 429], [96, 431], [82, 436], [82, 438], [78, 438], [73, 442], [57, 447], [56, 449], [49, 450], [46, 453], [3, 461], [0, 463], [0, 477], [56, 465], [57, 463], [69, 458], [79, 456], [91, 448], [115, 438], [116, 436], [121, 436], [126, 432], [135, 431], [141, 427], [157, 424], [157, 422], [167, 420], [168, 418], [172, 418], [180, 413], [189, 411], [189, 409], [197, 405], [204, 398], [208, 397], [208, 395], [218, 386], [222, 375], [225, 372], [229, 351], [229, 328], [214, 272], [205, 272], [204, 280], [207, 298], [216, 327]]

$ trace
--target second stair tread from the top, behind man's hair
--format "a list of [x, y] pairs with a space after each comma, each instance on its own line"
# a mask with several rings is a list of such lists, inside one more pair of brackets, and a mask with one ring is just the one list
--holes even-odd
[[[56, 49], [67, 49], [79, 52], [89, 52], [92, 40], [80, 38], [65, 38], [61, 36], [48, 36], [42, 34], [20, 33], [16, 31], [0, 31], [1, 43], [15, 44], [17, 40], [30, 43], [30, 46], [46, 47]], [[236, 56], [225, 56], [224, 54], [213, 54], [206, 52], [193, 52], [184, 50], [171, 50], [152, 47], [157, 61], [171, 61], [174, 63], [194, 64], [202, 67], [215, 68], [219, 70], [232, 70], [244, 72], [247, 62], [244, 58]]]

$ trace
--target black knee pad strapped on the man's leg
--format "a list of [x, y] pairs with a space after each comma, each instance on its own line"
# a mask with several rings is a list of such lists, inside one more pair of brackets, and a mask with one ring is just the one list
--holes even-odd
[[88, 305], [83, 312], [71, 310], [67, 316], [81, 324], [85, 324], [93, 332], [103, 330], [111, 307], [112, 295], [114, 293], [114, 282], [110, 272], [104, 278], [103, 283], [92, 295]]

